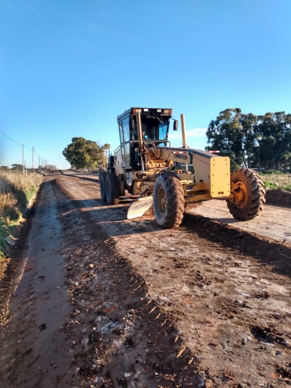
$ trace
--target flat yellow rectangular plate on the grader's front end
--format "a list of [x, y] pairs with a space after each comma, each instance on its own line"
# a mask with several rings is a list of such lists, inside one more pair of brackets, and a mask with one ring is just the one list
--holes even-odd
[[210, 196], [212, 198], [230, 195], [230, 160], [227, 156], [210, 159]]

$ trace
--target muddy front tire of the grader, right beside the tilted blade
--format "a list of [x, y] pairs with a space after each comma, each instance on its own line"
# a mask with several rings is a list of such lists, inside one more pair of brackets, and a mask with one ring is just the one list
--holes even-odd
[[154, 183], [153, 204], [158, 225], [177, 228], [183, 220], [184, 191], [180, 180], [172, 173], [158, 175]]

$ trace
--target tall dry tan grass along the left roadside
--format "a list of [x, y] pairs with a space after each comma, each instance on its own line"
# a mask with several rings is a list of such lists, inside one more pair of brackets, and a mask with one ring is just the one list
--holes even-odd
[[14, 234], [42, 181], [38, 173], [0, 171], [0, 279], [9, 263], [6, 238]]

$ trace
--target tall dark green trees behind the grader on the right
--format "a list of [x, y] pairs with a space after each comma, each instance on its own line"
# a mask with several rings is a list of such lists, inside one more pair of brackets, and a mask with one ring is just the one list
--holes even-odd
[[231, 168], [291, 168], [291, 114], [256, 116], [241, 109], [225, 109], [208, 126], [206, 151], [229, 156]]

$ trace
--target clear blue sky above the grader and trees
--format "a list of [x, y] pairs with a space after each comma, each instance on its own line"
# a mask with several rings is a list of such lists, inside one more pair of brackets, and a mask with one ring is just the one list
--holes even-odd
[[[204, 149], [220, 111], [291, 113], [289, 0], [1, 0], [0, 165], [69, 168], [73, 137], [118, 146], [132, 106], [185, 114]], [[181, 145], [181, 133], [171, 145]], [[178, 136], [178, 137], [177, 137]]]

